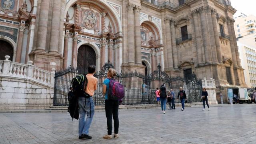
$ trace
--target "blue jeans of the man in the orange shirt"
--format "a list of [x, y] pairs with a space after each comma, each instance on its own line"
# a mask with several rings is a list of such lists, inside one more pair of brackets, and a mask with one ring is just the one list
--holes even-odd
[[[94, 101], [93, 98], [78, 98], [79, 105], [79, 124], [78, 124], [78, 134], [81, 136], [82, 134], [89, 134], [89, 128], [92, 123], [92, 118], [94, 115]], [[85, 119], [85, 115], [87, 114], [87, 118]]]

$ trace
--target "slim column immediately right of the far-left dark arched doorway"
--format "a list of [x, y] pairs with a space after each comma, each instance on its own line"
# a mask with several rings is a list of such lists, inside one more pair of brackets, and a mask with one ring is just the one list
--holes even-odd
[[22, 44], [23, 44], [23, 34], [24, 34], [25, 26], [20, 26], [19, 30], [20, 31], [19, 31], [19, 38], [18, 38], [15, 62], [20, 62], [21, 52], [22, 52]]

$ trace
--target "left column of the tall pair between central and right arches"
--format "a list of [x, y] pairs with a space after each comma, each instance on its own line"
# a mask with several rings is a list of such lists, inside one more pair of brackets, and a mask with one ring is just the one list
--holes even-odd
[[134, 53], [134, 5], [129, 3], [127, 5], [127, 25], [128, 25], [128, 63], [135, 62]]

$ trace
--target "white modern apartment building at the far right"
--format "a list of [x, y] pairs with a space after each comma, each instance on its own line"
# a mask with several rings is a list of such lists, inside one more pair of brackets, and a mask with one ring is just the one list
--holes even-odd
[[256, 87], [256, 16], [241, 14], [235, 18], [236, 40], [248, 87]]

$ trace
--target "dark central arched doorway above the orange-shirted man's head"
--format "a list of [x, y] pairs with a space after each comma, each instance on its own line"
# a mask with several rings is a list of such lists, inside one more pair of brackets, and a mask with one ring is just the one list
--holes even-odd
[[96, 53], [88, 45], [82, 45], [77, 52], [77, 69], [80, 74], [88, 73], [88, 66], [96, 65]]

